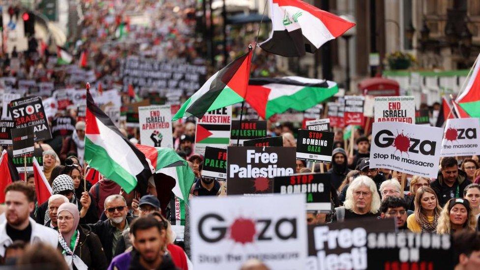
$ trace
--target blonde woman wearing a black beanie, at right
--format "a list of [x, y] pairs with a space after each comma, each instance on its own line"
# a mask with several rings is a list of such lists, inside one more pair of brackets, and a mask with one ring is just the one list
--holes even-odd
[[475, 231], [477, 220], [470, 209], [470, 203], [464, 199], [450, 199], [440, 213], [438, 234], [453, 234], [460, 230]]

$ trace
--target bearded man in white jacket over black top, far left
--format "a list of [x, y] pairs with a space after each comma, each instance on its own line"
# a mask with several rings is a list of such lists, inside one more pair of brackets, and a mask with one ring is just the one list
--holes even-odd
[[16, 240], [44, 242], [55, 248], [59, 244], [55, 230], [30, 218], [35, 208], [34, 198], [35, 190], [27, 183], [16, 181], [5, 188], [6, 220], [0, 224], [0, 256], [5, 255], [5, 248]]

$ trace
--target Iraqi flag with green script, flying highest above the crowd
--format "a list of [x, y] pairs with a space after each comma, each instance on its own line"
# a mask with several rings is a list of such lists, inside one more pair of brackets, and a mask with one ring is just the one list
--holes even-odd
[[355, 24], [301, 0], [269, 0], [272, 30], [260, 47], [272, 54], [298, 57], [314, 53], [325, 42]]

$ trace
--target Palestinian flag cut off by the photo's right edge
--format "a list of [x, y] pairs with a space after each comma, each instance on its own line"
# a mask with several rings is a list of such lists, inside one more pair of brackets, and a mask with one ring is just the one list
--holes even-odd
[[[459, 107], [468, 114], [468, 117], [480, 117], [480, 54], [467, 77], [467, 85], [455, 99]], [[458, 112], [463, 118], [462, 113]]]

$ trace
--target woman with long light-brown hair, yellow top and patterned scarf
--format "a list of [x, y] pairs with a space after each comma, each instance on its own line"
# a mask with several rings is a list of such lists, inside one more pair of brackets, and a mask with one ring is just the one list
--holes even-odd
[[435, 191], [428, 186], [420, 187], [414, 203], [415, 212], [408, 216], [407, 228], [414, 233], [434, 232], [442, 211]]

